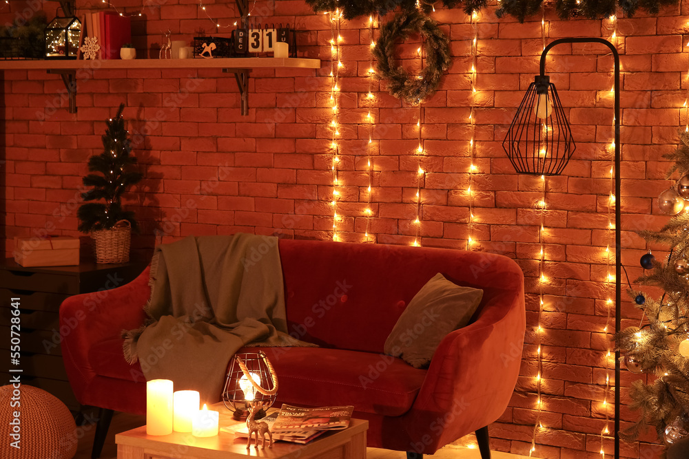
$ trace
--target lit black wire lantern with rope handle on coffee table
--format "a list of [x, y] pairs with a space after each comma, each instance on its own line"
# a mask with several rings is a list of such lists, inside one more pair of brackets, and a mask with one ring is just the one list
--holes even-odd
[[[262, 402], [265, 408], [271, 407], [277, 393], [278, 378], [262, 351], [235, 354], [229, 363], [223, 388], [223, 403], [232, 410], [234, 419], [245, 420], [249, 415], [249, 405], [254, 401]], [[264, 416], [265, 409], [261, 409], [254, 418]]]

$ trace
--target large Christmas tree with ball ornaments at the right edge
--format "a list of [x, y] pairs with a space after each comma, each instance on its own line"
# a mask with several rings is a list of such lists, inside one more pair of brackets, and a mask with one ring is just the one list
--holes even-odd
[[689, 431], [689, 212], [683, 211], [684, 199], [689, 199], [689, 133], [682, 129], [679, 136], [683, 145], [664, 158], [674, 162], [668, 180], [677, 172], [681, 178], [661, 193], [658, 202], [661, 211], [674, 217], [660, 231], [639, 231], [647, 241], [667, 244], [670, 255], [664, 262], [650, 251], [641, 257], [641, 266], [650, 272], [635, 283], [659, 287], [664, 293], [657, 300], [630, 290], [648, 323], [621, 330], [616, 336], [627, 369], [656, 376], [648, 384], [632, 383], [631, 408], [640, 410], [641, 416], [621, 434], [634, 439], [648, 424], [667, 445], [676, 444]]

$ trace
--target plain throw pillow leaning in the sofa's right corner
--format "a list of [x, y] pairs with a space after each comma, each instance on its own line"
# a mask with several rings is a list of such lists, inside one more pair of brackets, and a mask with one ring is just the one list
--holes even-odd
[[425, 367], [446, 334], [469, 323], [483, 290], [462, 287], [438, 273], [409, 302], [385, 341], [386, 354]]

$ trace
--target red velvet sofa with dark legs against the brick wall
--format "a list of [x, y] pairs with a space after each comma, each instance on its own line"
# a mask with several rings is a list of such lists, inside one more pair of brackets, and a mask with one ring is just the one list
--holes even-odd
[[[367, 445], [434, 453], [502, 415], [520, 370], [524, 279], [514, 261], [462, 250], [282, 239], [289, 331], [320, 348], [265, 348], [279, 403], [354, 405], [369, 420]], [[482, 288], [472, 322], [448, 334], [428, 370], [382, 354], [402, 310], [435, 275]], [[148, 269], [130, 284], [66, 299], [61, 323], [79, 325], [62, 341], [76, 398], [101, 407], [94, 457], [112, 411], [143, 414], [145, 380], [123, 359], [122, 330], [138, 327], [149, 297]], [[219, 396], [219, 394], [218, 394]], [[101, 442], [101, 445], [97, 443]], [[489, 456], [484, 456], [489, 457]]]

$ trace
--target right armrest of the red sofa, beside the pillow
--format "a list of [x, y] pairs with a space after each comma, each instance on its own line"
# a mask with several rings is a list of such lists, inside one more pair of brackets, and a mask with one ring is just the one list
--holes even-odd
[[[479, 319], [449, 333], [433, 354], [408, 427], [425, 431], [424, 453], [502, 416], [520, 372], [526, 317], [523, 283], [494, 297]], [[429, 433], [430, 432], [430, 433]]]

